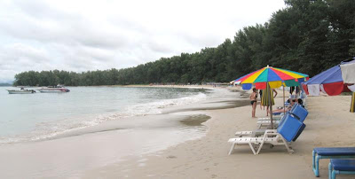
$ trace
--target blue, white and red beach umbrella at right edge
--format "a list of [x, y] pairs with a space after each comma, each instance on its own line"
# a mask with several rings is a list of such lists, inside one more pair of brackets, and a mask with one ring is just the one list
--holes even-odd
[[335, 96], [342, 92], [350, 92], [348, 85], [343, 82], [342, 65], [355, 63], [355, 59], [342, 62], [337, 66], [333, 66], [326, 71], [313, 76], [309, 81], [303, 82], [304, 91], [310, 96], [319, 96], [320, 91], [329, 95]]

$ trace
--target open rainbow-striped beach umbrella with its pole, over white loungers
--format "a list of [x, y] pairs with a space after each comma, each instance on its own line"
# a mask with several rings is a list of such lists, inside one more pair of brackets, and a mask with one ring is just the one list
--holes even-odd
[[[250, 90], [253, 84], [257, 90], [265, 90], [266, 87], [271, 89], [280, 88], [282, 83], [294, 84], [298, 82], [304, 82], [308, 79], [308, 74], [301, 74], [298, 72], [276, 68], [272, 66], [266, 66], [253, 73], [246, 74], [236, 79], [234, 83], [241, 84], [243, 90]], [[271, 90], [272, 91], [272, 90]], [[263, 97], [268, 95], [272, 99], [272, 92], [263, 94]], [[272, 122], [272, 100], [270, 104], [270, 117]]]

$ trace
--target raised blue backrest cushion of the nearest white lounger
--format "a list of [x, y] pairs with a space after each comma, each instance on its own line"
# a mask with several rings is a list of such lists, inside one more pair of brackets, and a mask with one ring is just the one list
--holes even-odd
[[298, 121], [294, 115], [288, 114], [288, 116], [280, 122], [277, 132], [288, 142], [291, 142], [297, 136], [298, 130], [302, 127], [302, 125], [303, 123]]

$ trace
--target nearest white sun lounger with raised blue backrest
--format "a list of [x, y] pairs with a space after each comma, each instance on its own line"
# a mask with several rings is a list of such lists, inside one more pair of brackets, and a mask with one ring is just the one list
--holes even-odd
[[235, 145], [239, 144], [248, 144], [255, 155], [261, 151], [264, 144], [284, 145], [288, 152], [292, 153], [294, 151], [290, 147], [290, 142], [295, 141], [304, 128], [304, 123], [288, 115], [278, 129], [267, 129], [263, 136], [230, 138], [228, 142], [232, 143], [232, 147], [229, 154], [233, 152]]

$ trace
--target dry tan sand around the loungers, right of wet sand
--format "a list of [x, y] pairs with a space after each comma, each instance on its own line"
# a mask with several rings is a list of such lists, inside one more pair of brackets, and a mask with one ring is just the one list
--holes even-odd
[[[282, 92], [276, 106], [282, 104]], [[129, 157], [120, 163], [86, 171], [84, 178], [316, 178], [312, 172], [312, 149], [323, 146], [355, 146], [355, 113], [349, 113], [351, 97], [308, 97], [307, 127], [292, 144], [295, 153], [285, 147], [265, 146], [253, 155], [248, 145], [236, 146], [228, 155], [227, 140], [235, 131], [253, 130], [256, 119], [251, 107], [205, 111], [211, 119], [209, 131], [201, 139], [187, 141], [161, 152]], [[265, 111], [256, 110], [263, 117]], [[320, 177], [327, 178], [327, 163], [320, 160]], [[353, 175], [340, 175], [353, 178]], [[340, 177], [339, 177], [340, 178]]]

